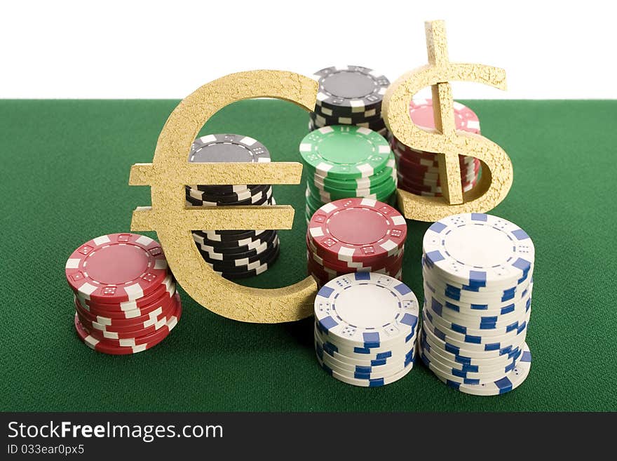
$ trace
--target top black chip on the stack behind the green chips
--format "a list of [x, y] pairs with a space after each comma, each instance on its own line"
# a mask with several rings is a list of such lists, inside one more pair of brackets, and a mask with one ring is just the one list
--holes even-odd
[[319, 82], [317, 105], [349, 112], [381, 107], [390, 86], [385, 76], [360, 66], [326, 67], [316, 72], [315, 78]]

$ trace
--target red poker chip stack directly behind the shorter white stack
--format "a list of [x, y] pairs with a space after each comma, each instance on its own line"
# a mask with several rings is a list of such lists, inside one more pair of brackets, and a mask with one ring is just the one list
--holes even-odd
[[342, 199], [316, 211], [306, 231], [308, 274], [318, 286], [354, 272], [402, 278], [407, 223], [387, 203]]

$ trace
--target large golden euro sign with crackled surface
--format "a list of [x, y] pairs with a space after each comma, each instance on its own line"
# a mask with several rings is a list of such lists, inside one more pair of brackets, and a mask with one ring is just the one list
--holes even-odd
[[272, 290], [237, 285], [206, 264], [191, 235], [191, 229], [291, 229], [291, 206], [185, 208], [184, 185], [299, 184], [301, 163], [190, 163], [189, 151], [204, 123], [232, 102], [279, 98], [312, 111], [317, 88], [307, 76], [275, 70], [238, 72], [206, 83], [169, 116], [152, 163], [131, 168], [129, 184], [149, 185], [152, 201], [150, 207], [135, 209], [131, 229], [156, 230], [179, 285], [212, 312], [258, 323], [294, 321], [313, 313], [317, 286], [312, 277]]

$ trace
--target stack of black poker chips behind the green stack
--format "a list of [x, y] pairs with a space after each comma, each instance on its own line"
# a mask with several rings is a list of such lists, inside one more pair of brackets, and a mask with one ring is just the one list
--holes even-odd
[[390, 81], [367, 67], [326, 67], [316, 72], [319, 83], [310, 131], [330, 125], [355, 125], [386, 136], [381, 101]]

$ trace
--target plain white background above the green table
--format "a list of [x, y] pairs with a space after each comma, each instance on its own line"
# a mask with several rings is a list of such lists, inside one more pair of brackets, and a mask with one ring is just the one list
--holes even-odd
[[610, 1], [3, 1], [0, 98], [184, 98], [231, 72], [426, 62], [445, 19], [452, 61], [503, 67], [508, 91], [456, 98], [617, 98]]

